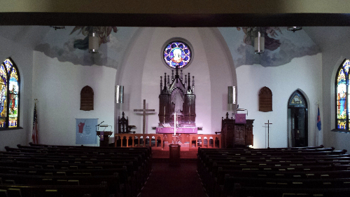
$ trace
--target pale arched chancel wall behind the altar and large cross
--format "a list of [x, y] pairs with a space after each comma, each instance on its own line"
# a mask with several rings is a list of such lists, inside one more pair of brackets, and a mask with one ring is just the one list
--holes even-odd
[[[123, 84], [125, 87], [125, 102], [116, 104], [115, 115], [121, 116], [125, 111], [129, 117], [129, 123], [136, 125], [136, 132], [141, 133], [141, 116], [137, 116], [133, 110], [140, 109], [142, 100], [146, 100], [148, 109], [156, 109], [155, 115], [150, 114], [146, 117], [146, 130], [148, 133], [155, 133], [153, 127], [160, 123], [158, 115], [170, 112], [167, 107], [166, 113], [164, 113], [164, 107], [159, 108], [160, 76], [162, 76], [163, 87], [165, 73], [167, 78], [168, 75], [172, 76], [171, 70], [169, 71], [169, 68], [164, 65], [160, 51], [164, 49], [165, 44], [169, 43], [169, 40], [174, 38], [188, 41], [191, 49], [195, 50], [193, 62], [183, 68], [183, 79], [190, 73], [190, 85], [193, 86], [193, 76], [195, 76], [196, 105], [195, 108], [183, 109], [188, 110], [184, 113], [191, 114], [191, 123], [195, 121], [196, 126], [202, 128], [200, 133], [218, 132], [221, 130], [221, 117], [228, 111], [232, 114], [232, 110], [235, 109], [235, 106], [228, 105], [227, 87], [237, 86], [237, 78], [230, 49], [221, 32], [214, 27], [140, 28], [133, 38], [134, 43], [127, 49], [125, 60], [118, 68], [116, 85]], [[179, 70], [179, 75], [180, 72]], [[176, 88], [178, 89], [179, 87]], [[184, 87], [183, 95], [186, 95], [187, 89], [188, 86]], [[186, 98], [183, 100], [186, 102]], [[164, 117], [161, 122], [164, 122]]]

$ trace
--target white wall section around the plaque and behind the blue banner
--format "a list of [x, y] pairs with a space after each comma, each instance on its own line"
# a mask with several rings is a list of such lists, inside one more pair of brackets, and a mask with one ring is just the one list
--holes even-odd
[[[37, 51], [33, 58], [33, 97], [38, 99], [39, 143], [75, 144], [76, 118], [99, 118], [99, 122], [104, 121], [114, 129], [116, 69], [59, 62]], [[94, 90], [92, 111], [80, 110], [80, 90], [84, 86]]]

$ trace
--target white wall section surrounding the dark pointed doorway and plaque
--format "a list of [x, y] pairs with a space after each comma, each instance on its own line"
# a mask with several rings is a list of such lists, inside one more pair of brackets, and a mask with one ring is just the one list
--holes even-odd
[[[321, 54], [295, 58], [280, 67], [262, 67], [254, 64], [238, 67], [237, 94], [239, 108], [248, 109], [248, 119], [253, 123], [254, 148], [267, 147], [267, 127], [269, 121], [269, 147], [287, 147], [287, 109], [290, 95], [302, 90], [307, 97], [309, 109], [309, 146], [315, 144], [316, 102], [322, 102]], [[260, 88], [272, 90], [272, 110], [258, 111]]]

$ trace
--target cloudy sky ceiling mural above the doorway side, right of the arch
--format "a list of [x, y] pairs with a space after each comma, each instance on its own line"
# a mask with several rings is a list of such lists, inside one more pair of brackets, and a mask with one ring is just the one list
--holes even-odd
[[[295, 57], [316, 55], [321, 50], [309, 36], [300, 30], [287, 31], [286, 27], [218, 27], [235, 63], [242, 65], [261, 64], [263, 67], [277, 67], [287, 64]], [[254, 53], [254, 38], [258, 29], [265, 33], [265, 52]]]

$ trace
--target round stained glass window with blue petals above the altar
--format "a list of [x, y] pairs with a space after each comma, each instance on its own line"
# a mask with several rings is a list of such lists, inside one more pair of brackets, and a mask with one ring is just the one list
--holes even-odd
[[172, 68], [178, 66], [179, 69], [186, 67], [192, 57], [190, 47], [182, 41], [172, 41], [167, 44], [163, 55], [165, 64]]

